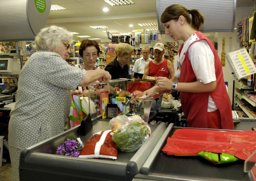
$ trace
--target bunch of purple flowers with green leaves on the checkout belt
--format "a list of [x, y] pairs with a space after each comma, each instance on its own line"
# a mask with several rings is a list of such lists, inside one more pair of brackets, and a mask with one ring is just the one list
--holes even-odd
[[57, 148], [57, 155], [74, 156], [78, 157], [83, 147], [77, 141], [75, 136], [68, 135]]

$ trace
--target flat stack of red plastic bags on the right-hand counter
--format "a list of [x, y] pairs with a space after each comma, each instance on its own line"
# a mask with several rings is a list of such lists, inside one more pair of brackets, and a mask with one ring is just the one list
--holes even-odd
[[162, 149], [168, 155], [196, 156], [201, 151], [227, 153], [246, 160], [256, 150], [256, 131], [177, 129]]

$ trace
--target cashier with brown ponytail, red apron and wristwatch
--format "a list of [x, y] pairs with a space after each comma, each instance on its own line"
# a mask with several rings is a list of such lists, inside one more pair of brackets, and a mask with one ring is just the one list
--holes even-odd
[[144, 95], [150, 97], [155, 92], [180, 91], [188, 127], [232, 129], [231, 103], [220, 58], [212, 42], [198, 31], [204, 24], [203, 14], [173, 4], [165, 9], [161, 22], [165, 34], [184, 43], [180, 47], [174, 78], [158, 77], [156, 86]]

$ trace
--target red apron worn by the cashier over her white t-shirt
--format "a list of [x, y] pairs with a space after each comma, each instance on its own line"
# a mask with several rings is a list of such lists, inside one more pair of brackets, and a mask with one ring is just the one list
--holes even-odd
[[[191, 92], [180, 91], [181, 107], [186, 116], [188, 127], [208, 128], [207, 109], [208, 109], [208, 99], [209, 99], [209, 96], [211, 96], [220, 111], [221, 129], [232, 129], [234, 127], [234, 124], [233, 124], [231, 103], [230, 103], [228, 92], [226, 90], [226, 86], [223, 79], [223, 72], [222, 72], [222, 65], [220, 62], [220, 58], [214, 46], [212, 45], [212, 42], [207, 37], [205, 37], [203, 33], [196, 32], [195, 34], [199, 38], [198, 40], [204, 39], [208, 42], [214, 54], [214, 66], [215, 66], [215, 76], [216, 76], [217, 86], [216, 86], [216, 90], [213, 92], [191, 93]], [[189, 47], [194, 42], [192, 42], [189, 45]], [[182, 47], [183, 47], [183, 44], [180, 47], [179, 55]], [[191, 62], [189, 61], [188, 50], [187, 50], [185, 59], [182, 63], [182, 69], [180, 69], [179, 82], [196, 82], [196, 81], [197, 81], [196, 75], [192, 69]]]

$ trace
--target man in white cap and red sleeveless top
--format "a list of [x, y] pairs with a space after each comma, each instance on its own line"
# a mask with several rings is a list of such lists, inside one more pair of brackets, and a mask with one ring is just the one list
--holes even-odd
[[144, 76], [173, 78], [174, 69], [172, 62], [163, 57], [164, 44], [156, 43], [153, 48], [155, 58], [145, 65]]

